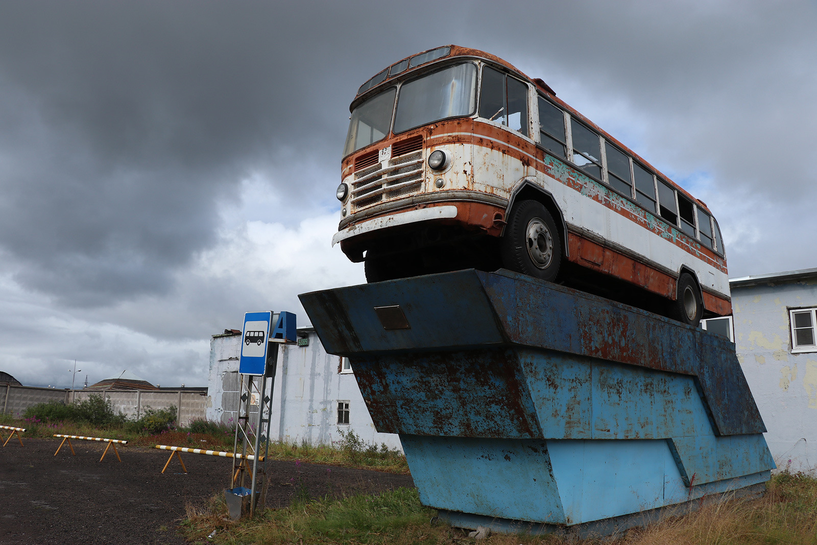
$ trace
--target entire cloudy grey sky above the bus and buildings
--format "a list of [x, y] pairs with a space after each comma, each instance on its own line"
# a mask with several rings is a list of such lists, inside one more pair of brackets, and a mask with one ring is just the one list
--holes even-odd
[[329, 247], [349, 102], [445, 43], [706, 201], [731, 275], [817, 266], [815, 2], [405, 6], [0, 0], [0, 369], [203, 384], [245, 310], [362, 281]]

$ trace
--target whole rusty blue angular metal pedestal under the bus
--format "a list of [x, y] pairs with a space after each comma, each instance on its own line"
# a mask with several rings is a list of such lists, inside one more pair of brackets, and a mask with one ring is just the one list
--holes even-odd
[[775, 467], [734, 346], [703, 330], [507, 271], [300, 297], [453, 524], [604, 534]]

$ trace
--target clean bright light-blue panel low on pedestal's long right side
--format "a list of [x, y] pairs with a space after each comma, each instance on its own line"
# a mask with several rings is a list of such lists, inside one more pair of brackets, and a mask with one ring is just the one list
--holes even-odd
[[683, 486], [665, 440], [548, 440], [567, 524], [666, 505], [667, 484]]

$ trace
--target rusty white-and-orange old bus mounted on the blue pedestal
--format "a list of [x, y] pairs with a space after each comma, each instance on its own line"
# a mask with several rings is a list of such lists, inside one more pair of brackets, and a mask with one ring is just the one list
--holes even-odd
[[377, 282], [506, 268], [698, 326], [731, 314], [707, 205], [484, 51], [409, 56], [358, 89], [333, 236]]

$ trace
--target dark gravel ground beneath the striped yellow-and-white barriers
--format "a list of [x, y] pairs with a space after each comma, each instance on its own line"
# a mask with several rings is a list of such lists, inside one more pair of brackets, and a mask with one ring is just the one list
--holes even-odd
[[[99, 461], [105, 444], [74, 440], [54, 456], [56, 439], [25, 438], [0, 447], [0, 543], [186, 543], [178, 534], [185, 504], [223, 494], [230, 458], [182, 453], [187, 473], [170, 453], [120, 446]], [[310, 496], [372, 494], [411, 487], [408, 475], [295, 462], [268, 462], [266, 507], [284, 507], [298, 478]], [[293, 482], [292, 479], [295, 479]]]

